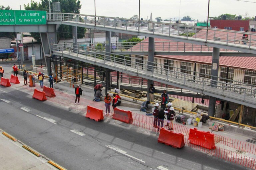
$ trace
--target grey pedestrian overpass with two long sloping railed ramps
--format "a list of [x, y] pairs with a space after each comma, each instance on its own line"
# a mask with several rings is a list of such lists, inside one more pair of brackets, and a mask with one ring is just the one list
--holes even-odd
[[[254, 85], [235, 82], [233, 80], [233, 83], [214, 81], [191, 74], [167, 70], [163, 65], [158, 63], [136, 63], [132, 58], [127, 59], [127, 56], [111, 54], [108, 53], [109, 51], [102, 53], [79, 49], [77, 46], [73, 47], [70, 45], [66, 46], [65, 44], [55, 44], [57, 40], [55, 39], [51, 41], [51, 37], [56, 37], [56, 31], [61, 24], [108, 32], [160, 38], [167, 41], [170, 40], [223, 48], [250, 54], [256, 54], [255, 33], [248, 33], [248, 41], [246, 44], [243, 44], [241, 42], [243, 33], [238, 31], [212, 28], [207, 29], [196, 26], [181, 27], [179, 24], [69, 13], [47, 13], [46, 25], [0, 26], [1, 32], [39, 32], [46, 56], [50, 55], [52, 45], [53, 53], [56, 55], [62, 55], [64, 57], [256, 108], [256, 87]], [[202, 51], [199, 52], [201, 53]], [[219, 80], [219, 77], [215, 78]], [[215, 87], [210, 86], [211, 82], [216, 84]]]

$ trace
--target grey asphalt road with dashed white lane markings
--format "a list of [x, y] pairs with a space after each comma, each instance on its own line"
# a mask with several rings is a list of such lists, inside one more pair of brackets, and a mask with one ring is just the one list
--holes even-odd
[[22, 88], [1, 86], [0, 99], [0, 128], [69, 170], [246, 169], [190, 147], [158, 143], [155, 132], [133, 125], [95, 122], [68, 106], [32, 99]]

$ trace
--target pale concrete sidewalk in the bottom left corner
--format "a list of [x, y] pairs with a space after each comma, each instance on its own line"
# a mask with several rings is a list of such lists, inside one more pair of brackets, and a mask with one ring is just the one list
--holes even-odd
[[0, 169], [2, 170], [57, 170], [47, 159], [37, 157], [22, 147], [19, 141], [14, 142], [0, 130]]

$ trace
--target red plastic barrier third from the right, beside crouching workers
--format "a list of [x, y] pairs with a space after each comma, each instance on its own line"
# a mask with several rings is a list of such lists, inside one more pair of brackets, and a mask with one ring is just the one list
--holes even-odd
[[132, 118], [132, 112], [131, 111], [125, 111], [125, 110], [122, 110], [122, 109], [115, 108], [112, 118], [115, 119], [115, 120], [127, 123], [127, 124], [132, 124], [133, 123], [133, 118]]

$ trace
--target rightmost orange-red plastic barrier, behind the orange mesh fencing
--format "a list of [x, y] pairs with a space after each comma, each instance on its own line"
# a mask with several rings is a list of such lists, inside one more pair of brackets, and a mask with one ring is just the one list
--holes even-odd
[[214, 133], [209, 131], [200, 131], [197, 128], [189, 130], [188, 140], [190, 143], [202, 146], [206, 149], [216, 149], [214, 142]]

